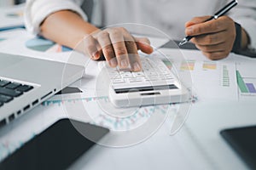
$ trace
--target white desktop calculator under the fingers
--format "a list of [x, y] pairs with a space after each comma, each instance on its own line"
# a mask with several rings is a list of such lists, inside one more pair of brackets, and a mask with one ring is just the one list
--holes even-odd
[[142, 71], [121, 71], [100, 61], [109, 82], [109, 99], [116, 107], [180, 103], [189, 91], [161, 59], [141, 57]]

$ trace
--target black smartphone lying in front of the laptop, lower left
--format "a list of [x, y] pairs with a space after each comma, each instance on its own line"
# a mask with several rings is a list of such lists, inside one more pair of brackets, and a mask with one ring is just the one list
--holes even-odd
[[67, 169], [108, 132], [104, 127], [61, 119], [1, 161], [0, 169]]

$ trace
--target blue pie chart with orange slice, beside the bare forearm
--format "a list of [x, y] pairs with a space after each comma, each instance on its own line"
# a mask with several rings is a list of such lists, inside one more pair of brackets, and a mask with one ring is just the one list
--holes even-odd
[[49, 53], [61, 53], [71, 51], [71, 48], [67, 48], [56, 44], [55, 42], [44, 39], [43, 37], [35, 37], [26, 41], [26, 48], [30, 48], [39, 52]]

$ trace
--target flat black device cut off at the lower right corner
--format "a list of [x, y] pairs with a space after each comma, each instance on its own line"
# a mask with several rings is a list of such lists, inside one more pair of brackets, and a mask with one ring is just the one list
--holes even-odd
[[220, 134], [248, 167], [256, 169], [256, 126], [224, 129]]

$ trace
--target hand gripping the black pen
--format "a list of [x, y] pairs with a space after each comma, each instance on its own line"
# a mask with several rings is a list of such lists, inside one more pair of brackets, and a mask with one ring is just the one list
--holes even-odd
[[195, 17], [185, 24], [185, 33], [195, 36], [191, 42], [209, 59], [224, 59], [236, 40], [235, 22], [228, 16], [209, 20], [210, 16]]

